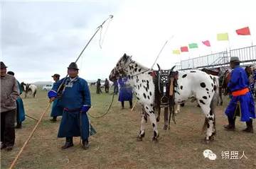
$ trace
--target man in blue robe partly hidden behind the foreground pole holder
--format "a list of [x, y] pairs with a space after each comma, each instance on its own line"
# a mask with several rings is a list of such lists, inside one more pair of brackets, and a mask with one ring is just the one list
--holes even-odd
[[[54, 74], [52, 78], [55, 81], [55, 83], [53, 83], [53, 88], [54, 88], [57, 82], [60, 81], [60, 75]], [[52, 110], [50, 112], [50, 117], [53, 117], [53, 118], [50, 120], [50, 122], [56, 122], [57, 117], [62, 115], [63, 115], [63, 107], [61, 107], [61, 105], [59, 104], [58, 98], [55, 98], [55, 100], [53, 101]]]

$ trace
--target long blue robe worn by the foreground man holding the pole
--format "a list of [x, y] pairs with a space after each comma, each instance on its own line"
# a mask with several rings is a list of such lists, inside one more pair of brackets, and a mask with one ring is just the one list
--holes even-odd
[[[53, 86], [53, 91], [58, 91], [58, 87], [64, 80], [61, 79]], [[90, 122], [87, 113], [80, 112], [82, 105], [91, 105], [90, 91], [87, 82], [79, 78], [66, 78], [65, 88], [60, 97], [60, 105], [63, 107], [63, 117], [60, 122], [58, 137], [81, 136], [82, 140], [90, 136]]]

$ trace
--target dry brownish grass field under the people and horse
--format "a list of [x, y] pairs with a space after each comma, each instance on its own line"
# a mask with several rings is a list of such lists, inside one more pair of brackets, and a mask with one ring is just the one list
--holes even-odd
[[[95, 91], [95, 88], [90, 88], [93, 106], [90, 114], [98, 116], [107, 110], [112, 95], [96, 95]], [[223, 124], [227, 123], [223, 111], [228, 98], [224, 99], [223, 106], [216, 108], [217, 136], [210, 144], [203, 141], [201, 129], [204, 115], [196, 103], [187, 103], [181, 107], [181, 113], [176, 115], [176, 124], [171, 122], [171, 129], [167, 131], [163, 130], [162, 113], [158, 124], [158, 143], [151, 141], [153, 130], [149, 121], [144, 140], [138, 142], [136, 137], [141, 121], [140, 105], [131, 112], [129, 103], [125, 103], [126, 108], [121, 110], [117, 98], [115, 95], [112, 108], [105, 117], [90, 118], [97, 134], [90, 137], [90, 148], [87, 151], [80, 147], [80, 138], [75, 138], [75, 146], [62, 150], [60, 147], [65, 139], [57, 138], [60, 117], [58, 122], [50, 122], [50, 111], [47, 112], [15, 168], [256, 168], [256, 135], [241, 132], [245, 123], [238, 119], [235, 132], [223, 129]], [[48, 105], [47, 93], [39, 91], [37, 98], [26, 98], [23, 102], [26, 113], [39, 119]], [[16, 129], [14, 150], [1, 151], [1, 168], [9, 168], [35, 125], [35, 120], [26, 117], [23, 128]], [[205, 149], [213, 151], [217, 159], [210, 161], [204, 158]], [[238, 151], [238, 158], [244, 151], [247, 159], [223, 159], [222, 151], [228, 151], [230, 155], [231, 151]]]

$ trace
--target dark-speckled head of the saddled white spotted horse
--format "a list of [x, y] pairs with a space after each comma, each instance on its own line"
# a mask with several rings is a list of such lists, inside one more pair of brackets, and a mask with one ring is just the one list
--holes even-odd
[[129, 64], [132, 62], [132, 57], [128, 56], [127, 54], [124, 54], [119, 61], [117, 62], [117, 65], [112, 69], [110, 73], [110, 81], [114, 81], [117, 79], [119, 76], [125, 76], [127, 71], [126, 69], [128, 68]]

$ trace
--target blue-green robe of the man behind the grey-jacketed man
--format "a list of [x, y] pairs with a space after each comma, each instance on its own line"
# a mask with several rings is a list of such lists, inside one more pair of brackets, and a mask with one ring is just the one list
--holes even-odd
[[[21, 88], [21, 84], [17, 81], [18, 83], [18, 89], [19, 89], [19, 94], [21, 95], [22, 88]], [[21, 96], [18, 96], [18, 99], [16, 100], [16, 105], [17, 105], [17, 109], [16, 109], [16, 113], [17, 113], [17, 122], [21, 123], [25, 120], [25, 110], [24, 110], [24, 105], [23, 105], [23, 101], [21, 99]]]

